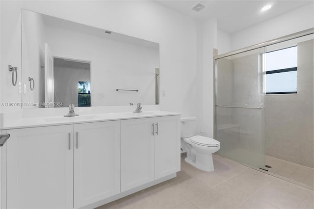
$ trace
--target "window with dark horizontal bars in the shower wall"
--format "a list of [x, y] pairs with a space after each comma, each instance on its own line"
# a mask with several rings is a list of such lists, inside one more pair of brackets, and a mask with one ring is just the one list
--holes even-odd
[[297, 93], [297, 47], [267, 52], [266, 94]]

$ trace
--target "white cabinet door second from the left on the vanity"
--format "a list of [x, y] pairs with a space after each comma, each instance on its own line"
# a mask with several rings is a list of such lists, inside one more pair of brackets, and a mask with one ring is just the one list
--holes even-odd
[[120, 122], [74, 125], [74, 208], [120, 192]]

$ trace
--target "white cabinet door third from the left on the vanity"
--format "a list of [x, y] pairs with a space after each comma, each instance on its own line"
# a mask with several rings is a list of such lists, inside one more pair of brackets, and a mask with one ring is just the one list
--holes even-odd
[[121, 192], [154, 180], [153, 119], [121, 120]]

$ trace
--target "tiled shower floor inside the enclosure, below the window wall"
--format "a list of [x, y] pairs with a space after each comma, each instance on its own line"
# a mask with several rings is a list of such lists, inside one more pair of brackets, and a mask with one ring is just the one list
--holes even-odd
[[270, 165], [268, 171], [289, 180], [314, 187], [314, 169], [275, 157], [266, 156], [265, 164]]

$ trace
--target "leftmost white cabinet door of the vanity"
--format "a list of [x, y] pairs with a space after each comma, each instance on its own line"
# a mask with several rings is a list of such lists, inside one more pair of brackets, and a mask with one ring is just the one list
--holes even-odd
[[72, 131], [72, 125], [7, 131], [8, 209], [73, 208]]

